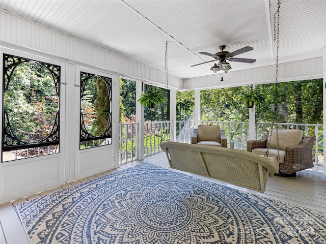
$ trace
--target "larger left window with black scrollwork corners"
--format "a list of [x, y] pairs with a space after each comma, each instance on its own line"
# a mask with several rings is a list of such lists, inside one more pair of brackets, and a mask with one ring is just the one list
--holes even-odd
[[59, 153], [60, 66], [4, 53], [2, 162]]

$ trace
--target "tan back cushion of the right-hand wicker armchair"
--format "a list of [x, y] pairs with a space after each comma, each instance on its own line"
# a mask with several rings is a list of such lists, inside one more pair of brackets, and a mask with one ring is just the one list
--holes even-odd
[[[302, 130], [291, 130], [291, 129], [284, 129], [278, 130], [279, 134], [279, 149], [285, 150], [287, 146], [297, 146], [304, 136], [304, 132]], [[269, 139], [269, 137], [268, 137]], [[276, 130], [271, 132], [270, 144], [267, 147], [277, 149], [277, 134]]]

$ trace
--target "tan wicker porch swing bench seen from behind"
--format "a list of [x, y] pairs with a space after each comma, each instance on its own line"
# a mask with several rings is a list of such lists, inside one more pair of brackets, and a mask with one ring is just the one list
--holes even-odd
[[170, 167], [264, 192], [268, 176], [279, 171], [276, 158], [248, 151], [180, 142], [164, 142]]

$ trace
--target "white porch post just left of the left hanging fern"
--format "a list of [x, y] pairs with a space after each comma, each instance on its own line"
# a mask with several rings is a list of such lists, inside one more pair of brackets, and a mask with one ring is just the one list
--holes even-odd
[[138, 124], [137, 134], [137, 159], [144, 159], [144, 107], [140, 105], [138, 99], [144, 93], [145, 83], [142, 81], [136, 82], [136, 123]]

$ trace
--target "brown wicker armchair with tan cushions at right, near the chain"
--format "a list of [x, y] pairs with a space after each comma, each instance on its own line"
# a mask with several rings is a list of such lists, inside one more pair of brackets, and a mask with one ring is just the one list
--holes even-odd
[[[274, 131], [274, 130], [273, 130]], [[303, 132], [300, 134], [297, 143], [289, 142], [289, 138], [292, 137], [292, 132], [300, 130], [279, 130], [279, 156], [280, 165], [279, 169], [291, 173], [292, 176], [295, 175], [297, 171], [304, 169], [309, 169], [314, 167], [312, 161], [312, 147], [315, 142], [314, 137], [303, 137]], [[294, 132], [295, 133], [295, 132]], [[247, 151], [251, 151], [255, 154], [264, 155], [267, 149], [267, 141], [269, 134], [266, 134], [262, 139], [255, 141], [247, 141]], [[277, 157], [277, 147], [275, 148], [275, 137], [276, 132], [272, 133], [271, 145], [269, 146], [270, 157]], [[281, 173], [281, 172], [280, 172]], [[283, 173], [283, 175], [286, 175]]]

